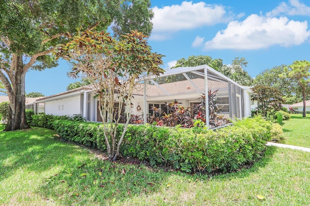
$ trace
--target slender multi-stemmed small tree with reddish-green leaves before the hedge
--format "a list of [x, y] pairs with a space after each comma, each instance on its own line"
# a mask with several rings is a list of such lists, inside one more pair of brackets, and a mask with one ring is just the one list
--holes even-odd
[[[71, 77], [84, 76], [93, 83], [111, 161], [119, 154], [130, 121], [130, 106], [127, 105], [131, 103], [134, 89], [139, 88], [139, 81], [147, 74], [164, 73], [159, 67], [163, 56], [151, 52], [146, 38], [138, 31], [131, 31], [116, 40], [109, 33], [86, 30], [69, 43], [59, 45], [55, 52], [57, 59], [69, 60], [73, 65]], [[117, 112], [123, 110], [125, 117]], [[117, 136], [122, 119], [125, 119], [124, 129]]]

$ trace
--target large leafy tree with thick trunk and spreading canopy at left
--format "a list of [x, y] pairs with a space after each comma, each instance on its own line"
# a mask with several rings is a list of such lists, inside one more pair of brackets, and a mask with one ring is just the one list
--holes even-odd
[[[106, 30], [115, 25], [129, 7], [143, 5], [143, 18], [127, 24], [125, 30], [149, 25], [153, 17], [140, 2], [150, 0], [1, 0], [0, 1], [0, 80], [9, 96], [10, 107], [6, 131], [29, 128], [25, 116], [25, 75], [29, 69], [44, 70], [57, 65], [50, 55], [62, 44], [85, 29]], [[127, 8], [127, 9], [126, 9]], [[151, 32], [148, 26], [145, 32]], [[119, 31], [122, 33], [122, 31]]]

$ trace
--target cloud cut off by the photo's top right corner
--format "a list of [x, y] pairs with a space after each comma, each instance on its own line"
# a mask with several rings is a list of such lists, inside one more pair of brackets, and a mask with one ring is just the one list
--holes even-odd
[[289, 0], [289, 4], [281, 2], [279, 6], [268, 12], [266, 16], [273, 17], [278, 15], [306, 15], [310, 16], [310, 7], [299, 0]]

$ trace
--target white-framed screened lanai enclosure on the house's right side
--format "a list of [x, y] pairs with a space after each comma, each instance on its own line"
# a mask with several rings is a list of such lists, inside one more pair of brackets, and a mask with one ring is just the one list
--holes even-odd
[[[159, 77], [150, 76], [144, 81], [143, 88], [144, 114], [152, 113], [152, 108], [160, 108], [162, 113], [168, 114], [168, 103], [177, 103], [191, 109], [192, 118], [197, 118], [197, 105], [204, 102], [205, 108], [209, 108], [204, 108], [205, 123], [210, 128], [227, 123], [219, 118], [240, 119], [250, 115], [252, 91], [208, 65], [179, 67]], [[147, 122], [146, 115], [144, 122]]]

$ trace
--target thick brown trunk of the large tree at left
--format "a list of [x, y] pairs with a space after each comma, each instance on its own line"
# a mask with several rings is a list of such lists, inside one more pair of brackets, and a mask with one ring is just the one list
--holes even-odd
[[4, 131], [30, 128], [25, 112], [25, 76], [23, 71], [22, 57], [16, 58], [15, 75], [11, 79], [12, 91], [8, 90], [10, 107], [8, 111], [8, 122]]

